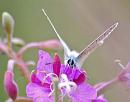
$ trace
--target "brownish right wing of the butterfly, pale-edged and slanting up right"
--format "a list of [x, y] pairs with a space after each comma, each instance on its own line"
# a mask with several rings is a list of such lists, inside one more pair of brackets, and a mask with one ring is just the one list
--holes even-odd
[[115, 23], [110, 28], [108, 28], [104, 33], [102, 33], [97, 39], [90, 43], [83, 51], [81, 51], [76, 58], [77, 64], [79, 67], [82, 66], [85, 59], [91, 54], [96, 48], [101, 46], [104, 40], [112, 33], [112, 31], [118, 26], [118, 23]]

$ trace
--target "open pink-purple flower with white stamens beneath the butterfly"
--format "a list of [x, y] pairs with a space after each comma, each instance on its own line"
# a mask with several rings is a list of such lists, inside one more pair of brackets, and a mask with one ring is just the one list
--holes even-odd
[[93, 86], [85, 83], [85, 74], [81, 68], [61, 64], [57, 54], [52, 59], [47, 52], [40, 50], [37, 67], [26, 87], [27, 96], [33, 98], [34, 102], [54, 102], [53, 77], [56, 77], [62, 97], [68, 95], [72, 102], [91, 102], [98, 99], [97, 92]]

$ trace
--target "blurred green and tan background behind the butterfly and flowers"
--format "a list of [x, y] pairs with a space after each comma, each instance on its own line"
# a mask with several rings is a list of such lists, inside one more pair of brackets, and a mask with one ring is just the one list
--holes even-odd
[[[43, 15], [42, 8], [47, 11], [66, 43], [77, 51], [81, 51], [112, 24], [119, 22], [118, 28], [102, 47], [88, 57], [83, 66], [87, 70], [90, 83], [112, 79], [120, 71], [114, 60], [121, 59], [125, 65], [130, 59], [129, 0], [0, 0], [0, 15], [4, 11], [13, 15], [14, 36], [26, 42], [57, 38]], [[6, 37], [2, 25], [0, 37]], [[28, 50], [24, 59], [37, 61], [37, 51], [38, 49]], [[63, 55], [63, 51], [58, 52]], [[6, 66], [7, 57], [0, 55], [0, 102], [7, 99], [3, 89]], [[26, 80], [17, 68], [15, 80], [19, 85], [19, 95], [25, 96]], [[110, 102], [130, 102], [130, 89], [118, 84], [107, 90], [105, 96]]]

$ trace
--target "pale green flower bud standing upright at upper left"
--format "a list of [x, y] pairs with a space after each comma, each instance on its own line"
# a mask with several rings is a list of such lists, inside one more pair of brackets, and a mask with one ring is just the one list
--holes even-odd
[[8, 12], [3, 12], [2, 14], [2, 26], [5, 33], [11, 36], [14, 30], [14, 19]]

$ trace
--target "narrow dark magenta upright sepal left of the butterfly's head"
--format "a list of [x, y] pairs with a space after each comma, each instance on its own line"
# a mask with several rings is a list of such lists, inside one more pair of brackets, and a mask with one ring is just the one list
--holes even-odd
[[58, 54], [55, 54], [54, 56], [54, 62], [53, 62], [53, 72], [59, 77], [60, 74], [60, 67], [61, 67], [61, 62]]

